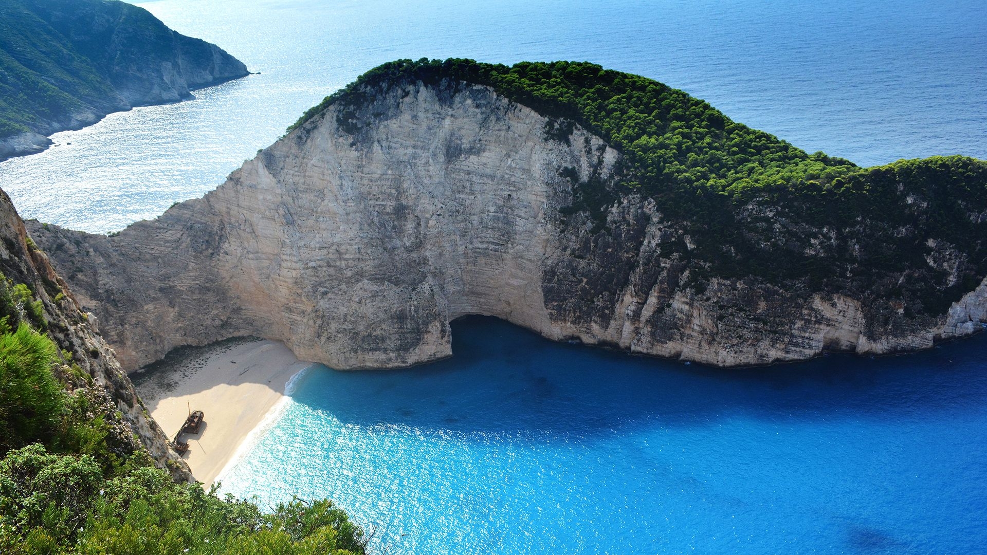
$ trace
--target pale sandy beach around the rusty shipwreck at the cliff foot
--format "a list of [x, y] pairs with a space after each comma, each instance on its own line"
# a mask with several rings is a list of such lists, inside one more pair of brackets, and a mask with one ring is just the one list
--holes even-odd
[[199, 433], [183, 436], [190, 446], [183, 456], [208, 486], [283, 399], [291, 376], [309, 365], [279, 342], [234, 339], [180, 350], [130, 378], [169, 438], [190, 410], [204, 413]]

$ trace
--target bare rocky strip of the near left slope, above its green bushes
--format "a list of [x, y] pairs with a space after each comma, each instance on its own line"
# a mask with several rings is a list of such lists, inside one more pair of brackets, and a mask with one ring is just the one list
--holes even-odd
[[[179, 481], [192, 479], [189, 466], [171, 450], [168, 438], [144, 408], [113, 350], [100, 337], [95, 316], [80, 310], [65, 281], [28, 238], [10, 198], [0, 191], [0, 273], [13, 283], [28, 285], [43, 306], [47, 334], [61, 350], [59, 366], [76, 365], [78, 374], [60, 372], [69, 389], [85, 389], [91, 410], [103, 411], [114, 442], [144, 448], [155, 463]], [[117, 414], [118, 411], [118, 414]], [[137, 442], [134, 443], [134, 437]], [[107, 439], [111, 441], [110, 438]]]

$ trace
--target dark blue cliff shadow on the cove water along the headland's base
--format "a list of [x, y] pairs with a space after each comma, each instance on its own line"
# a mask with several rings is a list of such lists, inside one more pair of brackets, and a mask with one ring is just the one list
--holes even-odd
[[832, 355], [721, 369], [560, 344], [491, 317], [453, 323], [453, 357], [398, 370], [309, 372], [293, 399], [344, 425], [592, 436], [633, 426], [887, 421], [978, 410], [987, 335], [901, 357]]

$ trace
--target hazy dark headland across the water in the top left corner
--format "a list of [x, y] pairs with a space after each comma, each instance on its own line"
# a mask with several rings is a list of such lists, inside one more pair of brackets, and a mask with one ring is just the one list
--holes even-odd
[[114, 0], [0, 2], [0, 160], [56, 131], [247, 75], [215, 44]]

